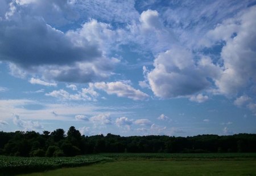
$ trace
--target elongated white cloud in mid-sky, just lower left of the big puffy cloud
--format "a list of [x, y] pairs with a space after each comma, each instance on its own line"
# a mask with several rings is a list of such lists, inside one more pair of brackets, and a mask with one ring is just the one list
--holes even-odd
[[145, 100], [149, 96], [146, 93], [134, 89], [128, 84], [122, 83], [121, 81], [110, 82], [110, 83], [94, 83], [94, 87], [97, 89], [102, 89], [109, 95], [117, 95], [118, 97], [127, 97], [133, 100]]

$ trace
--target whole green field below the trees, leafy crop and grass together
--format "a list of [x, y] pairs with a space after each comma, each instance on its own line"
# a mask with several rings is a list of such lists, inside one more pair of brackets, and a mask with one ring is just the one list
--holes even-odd
[[8, 170], [18, 174], [36, 169], [41, 172], [23, 175], [256, 175], [256, 153], [105, 153], [73, 158], [0, 157], [0, 161], [1, 166], [9, 163], [12, 168], [2, 167], [6, 175]]

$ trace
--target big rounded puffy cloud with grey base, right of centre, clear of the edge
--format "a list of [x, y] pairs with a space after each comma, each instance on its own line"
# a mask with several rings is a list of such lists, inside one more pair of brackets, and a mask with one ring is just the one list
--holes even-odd
[[147, 78], [155, 96], [160, 98], [192, 95], [210, 85], [195, 66], [191, 51], [180, 47], [160, 53], [154, 67]]

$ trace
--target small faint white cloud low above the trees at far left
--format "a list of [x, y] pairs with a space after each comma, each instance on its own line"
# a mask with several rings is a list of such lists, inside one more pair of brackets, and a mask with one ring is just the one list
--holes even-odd
[[20, 119], [19, 115], [14, 116], [13, 123], [23, 128], [24, 131], [32, 131], [44, 128], [38, 121], [25, 121]]

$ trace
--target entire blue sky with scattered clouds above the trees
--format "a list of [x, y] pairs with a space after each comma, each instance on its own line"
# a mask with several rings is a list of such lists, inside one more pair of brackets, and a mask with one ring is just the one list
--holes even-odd
[[0, 131], [256, 133], [256, 1], [1, 0]]

